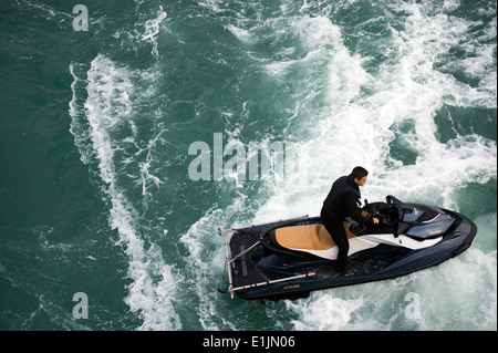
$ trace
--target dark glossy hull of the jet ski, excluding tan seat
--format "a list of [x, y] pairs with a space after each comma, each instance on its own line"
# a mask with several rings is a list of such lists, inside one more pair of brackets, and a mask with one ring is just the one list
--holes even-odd
[[232, 259], [228, 269], [231, 271], [231, 292], [248, 300], [297, 299], [315, 290], [392, 279], [436, 266], [464, 252], [477, 232], [476, 225], [467, 217], [449, 210], [440, 211], [456, 221], [436, 245], [416, 250], [378, 245], [351, 256], [346, 272], [342, 276], [335, 271], [333, 260], [277, 251], [268, 243], [267, 237], [272, 229], [320, 224], [320, 217], [237, 230], [229, 242]]

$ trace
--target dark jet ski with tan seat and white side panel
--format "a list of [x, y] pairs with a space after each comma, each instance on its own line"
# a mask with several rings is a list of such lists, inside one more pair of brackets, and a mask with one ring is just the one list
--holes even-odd
[[391, 279], [458, 256], [477, 232], [467, 217], [444, 208], [391, 195], [385, 203], [365, 203], [363, 216], [377, 217], [380, 224], [366, 228], [344, 221], [350, 250], [342, 273], [321, 217], [218, 229], [228, 272], [228, 288], [218, 291], [242, 299], [299, 299], [315, 290]]

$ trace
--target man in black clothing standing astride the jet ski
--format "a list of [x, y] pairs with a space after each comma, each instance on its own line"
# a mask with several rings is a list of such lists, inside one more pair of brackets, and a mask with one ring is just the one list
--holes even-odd
[[363, 167], [354, 167], [347, 176], [334, 181], [323, 201], [321, 210], [322, 222], [338, 246], [338, 270], [344, 273], [347, 263], [350, 243], [343, 226], [343, 220], [350, 216], [353, 220], [365, 225], [378, 225], [377, 218], [365, 218], [360, 214], [360, 186], [365, 185], [369, 172]]

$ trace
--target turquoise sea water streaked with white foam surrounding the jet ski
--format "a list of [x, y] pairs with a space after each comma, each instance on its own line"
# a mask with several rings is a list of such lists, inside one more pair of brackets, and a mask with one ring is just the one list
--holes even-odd
[[[497, 329], [495, 1], [85, 0], [75, 31], [77, 3], [0, 4], [1, 330]], [[295, 157], [251, 178], [251, 144]], [[293, 302], [216, 291], [217, 228], [318, 215], [355, 165], [371, 201], [475, 220], [471, 248]]]

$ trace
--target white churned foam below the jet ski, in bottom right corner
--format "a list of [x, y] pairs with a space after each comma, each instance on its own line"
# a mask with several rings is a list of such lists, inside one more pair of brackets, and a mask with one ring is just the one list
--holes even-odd
[[[483, 235], [481, 235], [483, 236]], [[488, 236], [488, 235], [487, 235]], [[294, 330], [496, 330], [496, 249], [475, 247], [406, 277], [286, 301]], [[411, 314], [416, 298], [416, 315]]]

